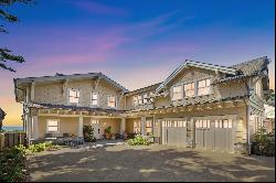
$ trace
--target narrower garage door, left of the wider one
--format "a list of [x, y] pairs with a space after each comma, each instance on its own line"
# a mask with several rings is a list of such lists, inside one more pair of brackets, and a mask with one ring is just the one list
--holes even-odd
[[187, 121], [163, 120], [162, 121], [162, 143], [185, 147]]

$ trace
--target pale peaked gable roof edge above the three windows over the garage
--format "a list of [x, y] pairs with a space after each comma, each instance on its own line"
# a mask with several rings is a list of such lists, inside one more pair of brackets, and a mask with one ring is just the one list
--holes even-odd
[[211, 71], [220, 71], [222, 73], [226, 73], [231, 75], [236, 75], [238, 73], [237, 68], [185, 60], [183, 64], [181, 64], [174, 72], [172, 72], [172, 74], [169, 77], [167, 77], [167, 79], [157, 88], [156, 92], [160, 92], [160, 89], [162, 89], [163, 86], [166, 86], [169, 82], [171, 82], [187, 66], [193, 66], [193, 67], [205, 68], [205, 69], [211, 69]]

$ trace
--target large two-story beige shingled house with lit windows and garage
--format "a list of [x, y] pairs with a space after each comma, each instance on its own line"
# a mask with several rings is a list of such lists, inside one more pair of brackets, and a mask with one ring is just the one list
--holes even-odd
[[102, 73], [15, 78], [30, 140], [83, 137], [91, 125], [102, 139], [153, 136], [161, 144], [217, 151], [246, 150], [265, 118], [269, 60], [232, 66], [185, 61], [162, 83], [128, 90]]

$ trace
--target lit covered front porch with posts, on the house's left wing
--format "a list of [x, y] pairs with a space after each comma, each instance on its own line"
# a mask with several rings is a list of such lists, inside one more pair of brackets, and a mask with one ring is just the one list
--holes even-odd
[[112, 128], [116, 138], [123, 138], [126, 119], [116, 111], [68, 110], [63, 108], [31, 108], [25, 131], [29, 140], [83, 138], [84, 126], [94, 128], [96, 139], [105, 139], [105, 129]]

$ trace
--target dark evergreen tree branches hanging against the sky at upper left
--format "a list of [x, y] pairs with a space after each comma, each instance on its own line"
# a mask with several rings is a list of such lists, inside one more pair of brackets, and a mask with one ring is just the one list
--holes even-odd
[[[19, 22], [19, 18], [14, 14], [8, 12], [6, 8], [14, 4], [14, 3], [30, 3], [32, 0], [0, 0], [0, 33], [8, 33], [8, 31], [3, 26], [3, 22]], [[12, 51], [3, 47], [0, 47], [0, 67], [10, 72], [15, 72], [12, 67], [7, 65], [7, 62], [15, 62], [23, 63], [25, 60], [23, 56], [13, 55]]]

